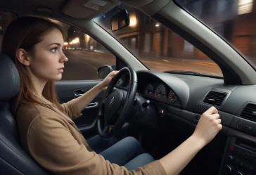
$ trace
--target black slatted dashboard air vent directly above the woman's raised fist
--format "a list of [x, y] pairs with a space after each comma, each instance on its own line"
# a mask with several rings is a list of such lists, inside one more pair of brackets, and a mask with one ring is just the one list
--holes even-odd
[[203, 102], [210, 105], [221, 106], [226, 95], [227, 93], [225, 92], [210, 91]]

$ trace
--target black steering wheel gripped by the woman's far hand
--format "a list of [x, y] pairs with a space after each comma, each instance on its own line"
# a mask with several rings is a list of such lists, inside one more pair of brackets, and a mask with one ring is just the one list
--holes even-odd
[[[129, 87], [126, 93], [114, 89], [124, 74], [129, 74]], [[137, 91], [137, 74], [132, 67], [124, 67], [113, 77], [108, 89], [105, 91], [98, 111], [97, 129], [101, 138], [111, 138], [117, 134], [129, 118]]]

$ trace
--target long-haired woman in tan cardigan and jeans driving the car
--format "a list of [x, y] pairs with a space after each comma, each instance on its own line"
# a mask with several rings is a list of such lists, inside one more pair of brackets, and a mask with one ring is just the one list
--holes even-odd
[[[12, 109], [24, 150], [51, 174], [60, 175], [177, 175], [222, 129], [216, 108], [207, 110], [193, 134], [160, 160], [143, 153], [135, 138], [127, 137], [96, 153], [73, 119], [110, 84], [111, 72], [87, 93], [60, 104], [54, 81], [68, 61], [62, 51], [63, 29], [51, 20], [22, 17], [8, 25], [2, 52], [13, 59], [20, 74], [20, 91]], [[91, 139], [98, 139], [91, 138]]]

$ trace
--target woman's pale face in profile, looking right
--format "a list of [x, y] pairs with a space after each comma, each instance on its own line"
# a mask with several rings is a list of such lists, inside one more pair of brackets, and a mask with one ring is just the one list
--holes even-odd
[[30, 72], [44, 80], [60, 80], [64, 63], [68, 61], [63, 53], [63, 35], [55, 28], [47, 32], [41, 42], [34, 45], [30, 59]]

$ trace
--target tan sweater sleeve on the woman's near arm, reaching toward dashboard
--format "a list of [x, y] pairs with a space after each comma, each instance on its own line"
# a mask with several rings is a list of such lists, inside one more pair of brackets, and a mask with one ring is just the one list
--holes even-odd
[[39, 115], [34, 119], [27, 133], [27, 148], [41, 167], [57, 175], [166, 175], [158, 160], [134, 171], [111, 164], [77, 143], [58, 117]]

